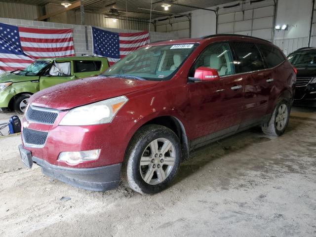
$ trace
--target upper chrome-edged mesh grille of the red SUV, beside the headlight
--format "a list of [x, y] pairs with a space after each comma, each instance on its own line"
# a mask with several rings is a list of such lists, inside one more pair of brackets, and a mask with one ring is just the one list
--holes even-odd
[[53, 124], [58, 116], [58, 111], [30, 106], [25, 116], [29, 121]]

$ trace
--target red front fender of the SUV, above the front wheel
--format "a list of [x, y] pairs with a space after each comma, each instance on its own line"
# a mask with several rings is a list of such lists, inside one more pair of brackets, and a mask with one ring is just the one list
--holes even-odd
[[127, 142], [126, 146], [141, 126], [154, 118], [163, 116], [175, 118], [185, 135], [190, 137], [189, 118], [184, 113], [189, 111], [190, 107], [185, 86], [167, 89], [161, 86], [160, 89], [137, 91], [126, 97], [129, 101], [113, 121], [126, 126], [128, 132], [122, 139]]

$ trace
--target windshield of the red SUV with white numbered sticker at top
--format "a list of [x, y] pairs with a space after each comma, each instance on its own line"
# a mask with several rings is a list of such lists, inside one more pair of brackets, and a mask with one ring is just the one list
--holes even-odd
[[110, 67], [104, 76], [168, 80], [198, 44], [168, 44], [140, 48]]

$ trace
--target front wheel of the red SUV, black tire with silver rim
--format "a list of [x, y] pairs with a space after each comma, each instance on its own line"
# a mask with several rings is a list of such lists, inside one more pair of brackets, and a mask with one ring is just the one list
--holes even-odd
[[164, 126], [145, 125], [135, 133], [127, 148], [121, 178], [138, 193], [158, 193], [176, 176], [180, 160], [177, 135]]

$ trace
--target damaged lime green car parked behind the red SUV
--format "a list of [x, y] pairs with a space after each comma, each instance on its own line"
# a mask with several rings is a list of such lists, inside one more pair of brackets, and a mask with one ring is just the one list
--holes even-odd
[[30, 96], [66, 81], [99, 75], [109, 67], [103, 57], [38, 59], [24, 70], [0, 75], [0, 110], [24, 113]]

